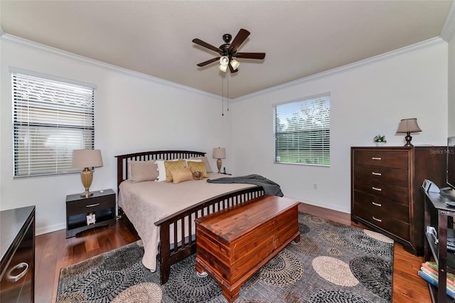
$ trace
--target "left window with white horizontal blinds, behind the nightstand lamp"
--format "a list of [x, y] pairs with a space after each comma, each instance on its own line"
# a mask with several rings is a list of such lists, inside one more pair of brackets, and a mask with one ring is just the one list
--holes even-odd
[[94, 147], [95, 87], [12, 73], [14, 176], [65, 174]]

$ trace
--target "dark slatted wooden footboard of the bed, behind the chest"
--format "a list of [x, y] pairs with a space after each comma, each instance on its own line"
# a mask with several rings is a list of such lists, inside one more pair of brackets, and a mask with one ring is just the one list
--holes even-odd
[[[261, 186], [231, 191], [202, 201], [191, 208], [155, 222], [160, 227], [159, 263], [161, 285], [166, 283], [171, 265], [196, 252], [196, 218], [214, 213], [223, 208], [246, 204], [252, 198], [264, 196]], [[188, 235], [188, 236], [185, 236]], [[178, 241], [178, 238], [182, 239]], [[176, 243], [176, 244], [171, 244]]]

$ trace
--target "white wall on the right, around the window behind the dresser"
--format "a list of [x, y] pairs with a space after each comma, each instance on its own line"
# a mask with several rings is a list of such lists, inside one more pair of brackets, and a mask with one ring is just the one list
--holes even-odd
[[[233, 171], [261, 174], [287, 197], [350, 213], [350, 147], [373, 146], [376, 134], [385, 134], [387, 146], [402, 146], [405, 135], [396, 130], [410, 117], [422, 129], [412, 134], [414, 145], [446, 145], [447, 48], [441, 41], [235, 100]], [[274, 164], [272, 105], [323, 92], [331, 92], [331, 166]]]

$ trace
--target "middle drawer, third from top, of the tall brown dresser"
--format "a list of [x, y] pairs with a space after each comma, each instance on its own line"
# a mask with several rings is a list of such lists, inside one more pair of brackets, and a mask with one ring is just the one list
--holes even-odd
[[362, 179], [360, 176], [355, 176], [353, 189], [409, 205], [409, 188], [407, 187]]

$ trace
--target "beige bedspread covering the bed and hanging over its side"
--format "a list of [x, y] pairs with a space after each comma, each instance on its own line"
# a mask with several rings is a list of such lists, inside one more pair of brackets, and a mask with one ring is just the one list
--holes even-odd
[[[208, 175], [209, 179], [226, 176], [217, 173]], [[127, 214], [144, 243], [142, 263], [154, 272], [159, 245], [159, 227], [154, 225], [156, 221], [208, 198], [252, 186], [254, 185], [212, 184], [206, 179], [179, 184], [127, 180], [119, 186], [119, 206]]]

